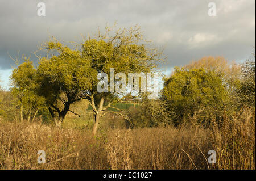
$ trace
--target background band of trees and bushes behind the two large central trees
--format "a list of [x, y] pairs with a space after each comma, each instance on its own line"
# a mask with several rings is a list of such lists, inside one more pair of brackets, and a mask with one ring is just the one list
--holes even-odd
[[[18, 76], [22, 77], [19, 83], [24, 83], [24, 90], [16, 87], [12, 87], [11, 91], [1, 90], [2, 119], [22, 121], [24, 117], [26, 121], [33, 122], [40, 118], [45, 123], [51, 123], [52, 117], [44, 98], [35, 94], [36, 85], [30, 82], [35, 73], [31, 68], [30, 61], [24, 62], [11, 77], [14, 81]], [[92, 119], [92, 116], [85, 117], [92, 112], [89, 103], [84, 101], [75, 105], [72, 110], [79, 112], [79, 116], [74, 115], [77, 119], [81, 116]], [[82, 106], [84, 111], [79, 111], [77, 105]], [[114, 103], [109, 110], [122, 110], [127, 117], [109, 113], [106, 118], [117, 117], [117, 121], [112, 121], [117, 122], [117, 126], [121, 124], [131, 128], [176, 126], [192, 120], [196, 120], [193, 124], [209, 126], [212, 120], [222, 121], [226, 116], [231, 118], [245, 107], [255, 110], [255, 60], [230, 64], [223, 57], [204, 57], [176, 67], [169, 78], [164, 78], [164, 88], [158, 100], [142, 96], [132, 99], [132, 102]]]

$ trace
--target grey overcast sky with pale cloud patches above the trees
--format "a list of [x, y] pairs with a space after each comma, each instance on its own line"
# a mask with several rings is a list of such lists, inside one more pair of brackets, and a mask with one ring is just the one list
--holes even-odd
[[[38, 2], [46, 4], [46, 16], [37, 15]], [[208, 15], [209, 2], [216, 3], [216, 16]], [[242, 61], [255, 46], [255, 0], [0, 0], [2, 85], [14, 65], [8, 53], [29, 55], [49, 35], [79, 41], [81, 33], [116, 20], [118, 27], [138, 23], [147, 39], [164, 47], [166, 71], [209, 55]]]

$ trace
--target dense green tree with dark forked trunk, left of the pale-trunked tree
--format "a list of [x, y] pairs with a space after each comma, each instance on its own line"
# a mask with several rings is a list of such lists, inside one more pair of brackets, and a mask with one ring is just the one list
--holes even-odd
[[59, 54], [40, 59], [36, 71], [39, 94], [46, 99], [56, 126], [61, 127], [65, 115], [72, 112], [69, 107], [81, 100], [82, 91], [92, 86], [90, 79], [95, 75], [79, 51], [53, 41], [49, 41], [46, 48], [48, 53], [56, 50]]

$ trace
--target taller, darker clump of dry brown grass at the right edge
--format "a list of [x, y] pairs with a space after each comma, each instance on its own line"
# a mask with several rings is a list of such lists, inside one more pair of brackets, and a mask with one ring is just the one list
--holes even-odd
[[255, 169], [255, 111], [214, 122], [212, 136], [218, 169]]

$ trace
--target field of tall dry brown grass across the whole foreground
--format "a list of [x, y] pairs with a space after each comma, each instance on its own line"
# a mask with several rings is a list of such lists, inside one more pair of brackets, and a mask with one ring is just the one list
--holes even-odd
[[[38, 164], [38, 150], [46, 164]], [[255, 113], [210, 128], [108, 128], [96, 137], [88, 128], [2, 120], [0, 169], [255, 169]]]

